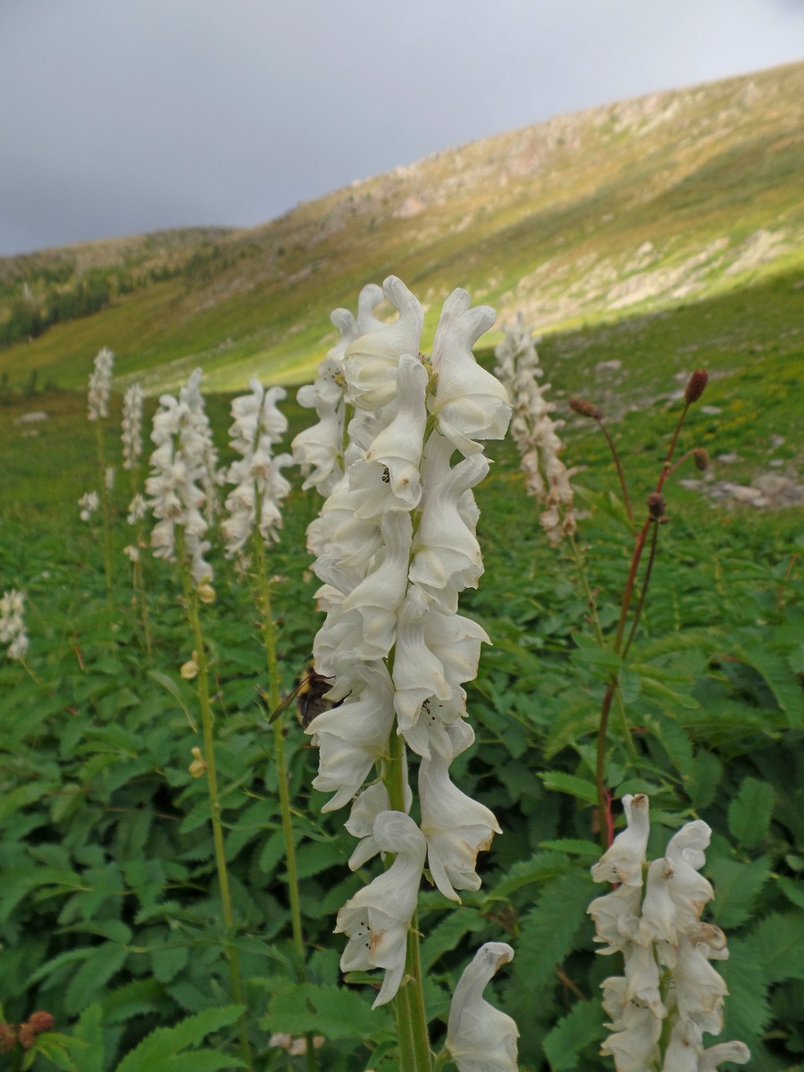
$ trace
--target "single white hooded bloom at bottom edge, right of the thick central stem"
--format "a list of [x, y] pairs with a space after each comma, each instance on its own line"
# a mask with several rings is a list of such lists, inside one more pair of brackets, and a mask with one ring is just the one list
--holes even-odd
[[492, 976], [512, 958], [510, 946], [487, 942], [456, 986], [449, 1007], [447, 1049], [458, 1072], [517, 1072], [517, 1025], [483, 998]]

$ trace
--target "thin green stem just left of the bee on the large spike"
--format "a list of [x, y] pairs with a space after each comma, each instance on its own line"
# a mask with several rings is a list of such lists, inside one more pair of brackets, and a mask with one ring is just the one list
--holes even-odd
[[[257, 517], [259, 517], [260, 504], [257, 495]], [[268, 580], [268, 570], [265, 561], [265, 544], [259, 530], [255, 526], [252, 532], [252, 545], [254, 547], [257, 563], [257, 585], [259, 590], [259, 604], [262, 612], [263, 642], [265, 644], [266, 664], [268, 668], [268, 696], [271, 711], [276, 711], [280, 703], [279, 696], [279, 662], [277, 660], [277, 629], [271, 614], [271, 586]], [[301, 926], [301, 899], [299, 897], [299, 875], [296, 865], [296, 843], [293, 834], [293, 816], [291, 810], [291, 791], [287, 784], [287, 762], [285, 760], [285, 734], [283, 720], [280, 718], [273, 724], [273, 761], [277, 765], [277, 785], [279, 787], [279, 805], [282, 814], [282, 836], [285, 842], [285, 864], [287, 866], [287, 899], [291, 906], [291, 932], [293, 935], [293, 950], [296, 961], [296, 974], [299, 982], [307, 979], [304, 933]], [[304, 1036], [307, 1041], [307, 1067], [309, 1072], [315, 1072], [318, 1067], [315, 1047], [313, 1044], [313, 1033]]]

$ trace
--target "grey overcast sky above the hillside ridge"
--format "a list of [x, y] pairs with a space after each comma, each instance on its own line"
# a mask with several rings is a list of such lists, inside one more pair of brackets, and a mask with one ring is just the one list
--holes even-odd
[[0, 0], [0, 254], [251, 226], [564, 111], [804, 58], [804, 0]]

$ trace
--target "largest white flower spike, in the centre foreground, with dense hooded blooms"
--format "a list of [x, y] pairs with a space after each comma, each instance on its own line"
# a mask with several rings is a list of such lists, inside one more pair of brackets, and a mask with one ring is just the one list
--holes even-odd
[[[374, 317], [381, 297], [398, 310], [397, 319]], [[421, 827], [412, 819], [406, 825], [417, 831], [437, 888], [458, 900], [458, 890], [480, 885], [477, 853], [500, 832], [491, 812], [448, 775], [474, 740], [462, 686], [476, 675], [480, 644], [488, 641], [458, 613], [458, 599], [482, 574], [472, 489], [489, 468], [483, 441], [505, 435], [510, 413], [505, 388], [472, 354], [494, 312], [471, 308], [466, 292], [455, 291], [430, 360], [419, 351], [423, 311], [401, 280], [390, 277], [382, 292], [364, 288], [358, 310], [356, 322], [340, 318], [339, 400], [353, 414], [345, 440], [342, 429], [327, 440], [322, 420], [317, 455], [311, 436], [294, 445], [311, 466], [310, 482], [331, 489], [309, 526], [308, 546], [326, 612], [314, 642], [315, 669], [333, 679], [328, 696], [342, 702], [308, 727], [319, 748], [313, 785], [333, 794], [325, 810], [357, 798], [347, 829], [361, 838], [351, 860], [360, 866], [383, 848], [377, 816], [406, 818], [378, 809], [389, 807], [394, 778], [402, 779], [394, 799], [412, 799], [410, 748], [419, 758]], [[324, 386], [316, 389], [324, 393]], [[414, 891], [423, 859], [422, 852]], [[340, 919], [339, 929], [347, 929]], [[378, 959], [371, 965], [388, 968]], [[401, 971], [394, 962], [383, 1000], [396, 994]]]

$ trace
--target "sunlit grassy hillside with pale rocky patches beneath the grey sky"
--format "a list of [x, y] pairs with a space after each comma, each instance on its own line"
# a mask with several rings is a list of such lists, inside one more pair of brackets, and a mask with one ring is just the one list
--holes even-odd
[[[331, 309], [390, 271], [425, 296], [426, 344], [456, 283], [551, 330], [727, 293], [804, 266], [802, 100], [792, 64], [437, 153], [252, 230], [81, 247], [77, 264], [175, 267], [211, 238], [218, 254], [198, 278], [0, 352], [0, 373], [80, 387], [109, 345], [121, 386], [173, 388], [198, 363], [208, 389], [300, 383], [334, 339]], [[0, 276], [33, 259], [0, 262]]]

